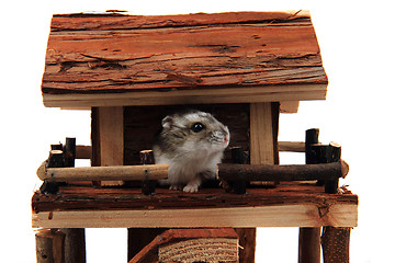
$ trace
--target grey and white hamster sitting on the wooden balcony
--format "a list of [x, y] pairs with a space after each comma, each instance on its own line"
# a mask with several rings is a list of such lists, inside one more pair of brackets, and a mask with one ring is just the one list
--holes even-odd
[[200, 111], [168, 115], [161, 125], [153, 149], [155, 163], [169, 163], [165, 183], [170, 190], [198, 192], [203, 180], [215, 178], [216, 164], [229, 145], [228, 127]]

